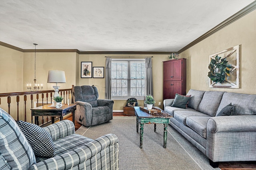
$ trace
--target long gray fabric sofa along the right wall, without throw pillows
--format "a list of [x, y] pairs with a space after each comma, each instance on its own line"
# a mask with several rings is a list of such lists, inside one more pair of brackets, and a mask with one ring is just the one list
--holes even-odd
[[[216, 168], [219, 162], [256, 161], [256, 95], [220, 91], [189, 90], [188, 107], [172, 107], [164, 100], [164, 111], [173, 115], [170, 125], [203, 152]], [[218, 116], [232, 103], [234, 113]]]

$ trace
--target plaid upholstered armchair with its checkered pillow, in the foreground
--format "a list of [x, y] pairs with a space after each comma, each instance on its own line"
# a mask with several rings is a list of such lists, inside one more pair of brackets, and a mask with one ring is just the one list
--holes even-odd
[[39, 127], [0, 108], [0, 170], [118, 170], [118, 139], [75, 134], [72, 121]]

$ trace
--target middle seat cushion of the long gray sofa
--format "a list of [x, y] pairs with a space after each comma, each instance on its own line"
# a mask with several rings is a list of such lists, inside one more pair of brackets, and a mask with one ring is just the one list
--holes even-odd
[[186, 119], [188, 116], [206, 116], [210, 117], [209, 115], [206, 115], [204, 113], [201, 113], [199, 111], [174, 111], [174, 118], [180, 121], [182, 124], [186, 125]]

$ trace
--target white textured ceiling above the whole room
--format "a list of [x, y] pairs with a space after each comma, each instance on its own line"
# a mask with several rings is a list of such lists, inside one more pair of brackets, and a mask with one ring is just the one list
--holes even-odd
[[0, 0], [0, 41], [21, 49], [178, 51], [254, 0]]

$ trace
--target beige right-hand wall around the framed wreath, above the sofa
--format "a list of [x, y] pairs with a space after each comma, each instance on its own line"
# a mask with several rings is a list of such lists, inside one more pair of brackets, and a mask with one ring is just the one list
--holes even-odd
[[[209, 55], [241, 45], [240, 89], [209, 88]], [[256, 10], [180, 53], [187, 59], [189, 89], [256, 94]]]

